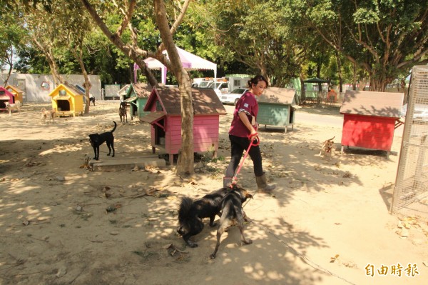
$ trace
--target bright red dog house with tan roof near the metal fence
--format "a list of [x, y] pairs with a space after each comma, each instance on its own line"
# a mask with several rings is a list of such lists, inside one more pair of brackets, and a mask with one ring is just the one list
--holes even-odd
[[402, 93], [346, 91], [340, 114], [343, 114], [343, 146], [391, 151], [394, 129], [403, 105]]

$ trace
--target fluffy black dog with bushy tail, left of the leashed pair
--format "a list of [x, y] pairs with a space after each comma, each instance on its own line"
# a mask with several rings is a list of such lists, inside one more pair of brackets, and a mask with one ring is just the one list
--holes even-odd
[[221, 200], [228, 194], [228, 191], [230, 191], [230, 188], [222, 188], [196, 201], [188, 197], [184, 197], [181, 200], [180, 209], [178, 210], [178, 223], [180, 226], [177, 232], [183, 236], [188, 246], [198, 246], [198, 244], [190, 241], [190, 236], [195, 236], [203, 230], [203, 218], [210, 218], [210, 226], [215, 226], [215, 215], [219, 215]]

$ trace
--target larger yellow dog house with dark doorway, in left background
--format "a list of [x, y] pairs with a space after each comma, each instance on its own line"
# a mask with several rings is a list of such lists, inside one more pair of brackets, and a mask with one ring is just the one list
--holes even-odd
[[56, 116], [83, 115], [83, 94], [75, 86], [62, 83], [56, 86], [49, 96], [52, 97], [52, 108]]

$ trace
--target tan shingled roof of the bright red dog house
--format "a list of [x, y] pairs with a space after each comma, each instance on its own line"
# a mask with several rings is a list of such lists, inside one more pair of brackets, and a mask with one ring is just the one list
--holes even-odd
[[402, 93], [348, 90], [340, 113], [400, 118], [403, 98]]

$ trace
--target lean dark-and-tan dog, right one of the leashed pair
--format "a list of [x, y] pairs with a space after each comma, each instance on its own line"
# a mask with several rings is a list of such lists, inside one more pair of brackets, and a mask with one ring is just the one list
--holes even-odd
[[217, 244], [215, 244], [214, 252], [210, 255], [210, 259], [215, 259], [215, 255], [220, 246], [221, 235], [230, 227], [238, 226], [241, 234], [241, 240], [244, 244], [252, 244], [251, 239], [245, 239], [244, 236], [244, 221], [246, 219], [245, 212], [243, 211], [243, 202], [251, 199], [253, 196], [245, 189], [238, 186], [233, 186], [226, 196], [221, 201], [221, 218], [220, 225], [217, 230]]

